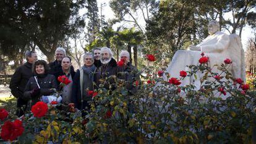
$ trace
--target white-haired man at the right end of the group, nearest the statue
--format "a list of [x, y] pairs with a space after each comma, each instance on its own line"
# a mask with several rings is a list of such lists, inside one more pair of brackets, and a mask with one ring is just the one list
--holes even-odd
[[136, 67], [132, 66], [128, 51], [121, 51], [120, 56], [121, 61], [124, 61], [124, 66], [117, 67], [117, 77], [126, 81], [126, 88], [133, 95], [137, 91], [137, 87], [134, 87], [133, 83], [136, 80], [139, 82], [139, 73]]

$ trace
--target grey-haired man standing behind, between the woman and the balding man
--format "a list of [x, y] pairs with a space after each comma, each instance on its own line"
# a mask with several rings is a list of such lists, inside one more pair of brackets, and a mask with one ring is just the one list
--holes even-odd
[[[49, 62], [49, 74], [54, 74], [56, 72], [60, 72], [62, 67], [61, 67], [61, 60], [63, 57], [66, 56], [66, 50], [64, 48], [57, 48], [55, 51], [55, 61]], [[74, 67], [70, 67], [71, 70], [74, 70]]]

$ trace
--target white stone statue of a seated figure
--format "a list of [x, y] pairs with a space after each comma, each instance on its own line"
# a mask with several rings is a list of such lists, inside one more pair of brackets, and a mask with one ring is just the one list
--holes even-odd
[[[204, 53], [205, 56], [210, 58], [210, 67], [223, 63], [224, 59], [231, 59], [233, 63], [229, 67], [229, 71], [233, 74], [234, 78], [242, 78], [245, 82], [245, 64], [244, 64], [244, 49], [242, 49], [241, 39], [238, 35], [227, 35], [226, 33], [219, 32], [220, 24], [216, 20], [212, 20], [208, 24], [208, 33], [210, 34], [205, 40], [196, 46], [189, 46], [189, 50], [178, 50], [169, 64], [166, 71], [171, 77], [179, 78], [181, 70], [189, 70], [187, 66], [197, 65], [200, 54]], [[220, 74], [217, 67], [213, 67], [213, 72]], [[200, 87], [200, 78], [202, 74], [197, 74], [195, 78], [185, 78], [182, 80], [182, 85], [193, 84], [195, 87]], [[167, 77], [164, 76], [165, 80]]]

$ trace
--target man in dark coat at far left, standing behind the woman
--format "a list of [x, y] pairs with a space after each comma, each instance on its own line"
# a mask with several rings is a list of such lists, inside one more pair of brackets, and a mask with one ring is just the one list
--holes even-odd
[[19, 117], [24, 114], [25, 109], [27, 108], [28, 101], [23, 100], [22, 96], [29, 78], [33, 76], [32, 64], [37, 60], [35, 51], [27, 51], [25, 53], [25, 58], [27, 62], [15, 70], [10, 82], [11, 93], [17, 98], [16, 115]]

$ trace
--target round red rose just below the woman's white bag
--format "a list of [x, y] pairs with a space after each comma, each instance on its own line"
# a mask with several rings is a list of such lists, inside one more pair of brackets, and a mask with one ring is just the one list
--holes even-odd
[[35, 105], [32, 106], [31, 111], [35, 117], [43, 117], [48, 111], [48, 106], [46, 103], [43, 103], [43, 101], [38, 101]]

